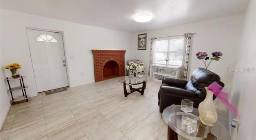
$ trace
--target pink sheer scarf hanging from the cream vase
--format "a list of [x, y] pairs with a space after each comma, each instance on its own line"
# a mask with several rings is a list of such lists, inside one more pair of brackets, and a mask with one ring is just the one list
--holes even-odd
[[208, 89], [214, 93], [214, 95], [236, 116], [238, 111], [234, 105], [228, 102], [229, 93], [222, 91], [223, 87], [217, 82], [213, 82], [208, 86]]

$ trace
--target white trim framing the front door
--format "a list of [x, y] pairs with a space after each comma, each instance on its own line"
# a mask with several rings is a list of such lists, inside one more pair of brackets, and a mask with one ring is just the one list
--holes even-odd
[[[27, 44], [28, 44], [28, 51], [29, 51], [29, 54], [30, 54], [30, 63], [32, 65], [32, 70], [33, 70], [33, 75], [34, 75], [35, 83], [36, 83], [36, 77], [35, 77], [35, 74], [34, 74], [34, 67], [33, 67], [33, 63], [32, 63], [31, 52], [30, 52], [30, 47], [29, 47], [29, 43], [28, 43], [28, 34], [26, 32], [26, 29], [32, 29], [32, 30], [38, 30], [38, 31], [49, 31], [49, 32], [61, 33], [62, 34], [63, 48], [64, 48], [64, 57], [65, 57], [65, 61], [66, 61], [66, 72], [67, 72], [67, 78], [68, 78], [68, 87], [70, 87], [69, 64], [68, 64], [68, 61], [67, 61], [67, 53], [66, 53], [66, 45], [65, 45], [65, 39], [64, 39], [64, 31], [57, 31], [57, 30], [51, 30], [51, 29], [42, 29], [42, 28], [28, 27], [28, 26], [25, 26], [24, 29], [25, 29], [25, 33], [26, 33], [26, 39], [27, 39]], [[36, 86], [36, 92], [38, 94], [37, 86]]]

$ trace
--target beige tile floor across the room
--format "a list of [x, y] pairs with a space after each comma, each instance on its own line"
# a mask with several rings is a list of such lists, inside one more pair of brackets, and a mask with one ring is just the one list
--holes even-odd
[[161, 82], [124, 97], [118, 78], [12, 105], [1, 140], [167, 140], [158, 111]]

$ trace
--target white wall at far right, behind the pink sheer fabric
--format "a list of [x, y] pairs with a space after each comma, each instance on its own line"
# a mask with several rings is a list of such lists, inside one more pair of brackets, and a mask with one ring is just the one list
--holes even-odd
[[[236, 68], [254, 68], [256, 70], [256, 0], [251, 0], [248, 5], [242, 41], [238, 53]], [[232, 128], [232, 140], [256, 139], [256, 71], [254, 73], [234, 74], [232, 85], [233, 101], [240, 114], [240, 128], [238, 132]]]

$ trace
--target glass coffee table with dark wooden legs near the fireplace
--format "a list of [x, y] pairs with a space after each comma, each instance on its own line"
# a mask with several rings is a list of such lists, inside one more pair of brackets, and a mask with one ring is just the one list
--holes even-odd
[[[130, 93], [133, 93], [135, 91], [138, 91], [141, 95], [144, 94], [147, 81], [150, 79], [149, 76], [123, 76], [118, 81], [123, 83], [124, 85], [124, 97], [127, 97]], [[132, 85], [138, 85], [142, 84], [142, 87], [140, 88], [132, 88]], [[130, 92], [127, 92], [126, 85], [129, 86]]]

